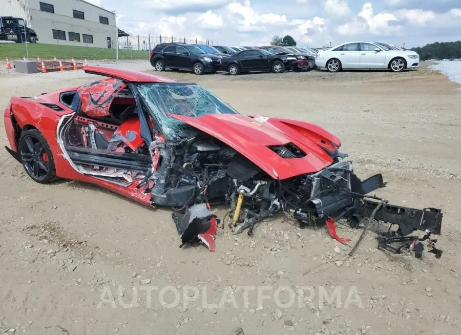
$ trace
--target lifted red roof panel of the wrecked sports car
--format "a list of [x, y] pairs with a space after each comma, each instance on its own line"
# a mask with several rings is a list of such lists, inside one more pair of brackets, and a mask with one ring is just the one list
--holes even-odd
[[123, 82], [176, 82], [170, 78], [132, 71], [132, 70], [124, 70], [120, 68], [111, 68], [106, 66], [85, 66], [83, 67], [83, 71], [86, 73], [91, 74], [98, 74], [101, 76], [112, 77], [115, 79], [119, 79]]

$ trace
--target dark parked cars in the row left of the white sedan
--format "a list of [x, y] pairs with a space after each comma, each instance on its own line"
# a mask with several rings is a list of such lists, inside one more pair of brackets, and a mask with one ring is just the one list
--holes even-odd
[[[240, 48], [242, 50], [240, 50]], [[224, 71], [231, 75], [250, 71], [310, 71], [315, 67], [315, 53], [284, 47], [227, 47], [161, 43], [151, 52], [151, 65], [165, 69], [192, 71], [195, 74]]]

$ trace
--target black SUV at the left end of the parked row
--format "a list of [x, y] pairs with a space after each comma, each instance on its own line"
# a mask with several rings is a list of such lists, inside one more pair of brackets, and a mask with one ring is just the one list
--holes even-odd
[[151, 65], [157, 71], [177, 69], [203, 74], [218, 71], [221, 66], [221, 58], [205, 53], [191, 44], [161, 43], [156, 45], [151, 52]]

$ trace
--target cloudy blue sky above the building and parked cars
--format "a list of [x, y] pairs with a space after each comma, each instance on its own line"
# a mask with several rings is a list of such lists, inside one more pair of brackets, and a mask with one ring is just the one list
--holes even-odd
[[406, 48], [461, 40], [461, 0], [86, 0], [117, 13], [133, 34], [267, 45], [291, 35], [298, 46], [373, 40]]

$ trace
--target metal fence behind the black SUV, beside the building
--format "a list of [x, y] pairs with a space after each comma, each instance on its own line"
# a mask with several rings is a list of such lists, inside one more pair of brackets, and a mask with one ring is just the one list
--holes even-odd
[[118, 49], [150, 51], [160, 43], [188, 43], [188, 44], [217, 44], [213, 40], [191, 39], [186, 37], [175, 36], [151, 36], [151, 35], [130, 35], [118, 38]]

